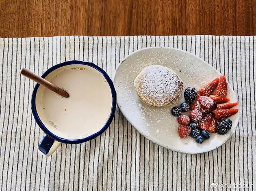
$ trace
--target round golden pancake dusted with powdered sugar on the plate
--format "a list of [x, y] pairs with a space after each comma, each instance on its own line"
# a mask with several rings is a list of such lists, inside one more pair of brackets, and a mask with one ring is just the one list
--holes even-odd
[[144, 68], [134, 81], [141, 101], [155, 107], [169, 106], [181, 95], [183, 83], [170, 68], [151, 65]]

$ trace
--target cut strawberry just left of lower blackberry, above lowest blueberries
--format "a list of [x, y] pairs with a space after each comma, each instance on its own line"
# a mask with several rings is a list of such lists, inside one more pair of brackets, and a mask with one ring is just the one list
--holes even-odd
[[208, 132], [216, 132], [216, 120], [214, 113], [206, 114], [199, 123], [199, 128]]

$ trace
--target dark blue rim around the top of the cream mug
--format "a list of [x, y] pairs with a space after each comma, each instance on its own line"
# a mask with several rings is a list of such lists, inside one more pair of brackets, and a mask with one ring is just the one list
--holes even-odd
[[[96, 66], [95, 64], [93, 64], [92, 62], [82, 62], [82, 61], [78, 61], [78, 60], [72, 60], [72, 61], [67, 61], [67, 62], [63, 62], [61, 64], [57, 64], [55, 66], [52, 66], [51, 68], [49, 68], [48, 70], [46, 70], [46, 72], [43, 73], [43, 75], [41, 76], [42, 78], [45, 78], [48, 74], [50, 74], [52, 71], [56, 70], [57, 68], [60, 68], [62, 66], [67, 66], [67, 65], [72, 65], [72, 64], [83, 64], [83, 65], [87, 65], [87, 66], [91, 66], [92, 68], [98, 70], [106, 79], [106, 81], [108, 82], [108, 85], [111, 89], [111, 93], [112, 93], [112, 108], [111, 108], [111, 114], [108, 117], [108, 120], [106, 121], [105, 125], [102, 127], [102, 129], [100, 129], [100, 131], [96, 132], [95, 134], [92, 134], [86, 138], [82, 138], [82, 139], [75, 139], [75, 140], [69, 140], [69, 139], [65, 139], [65, 138], [61, 138], [59, 136], [54, 135], [52, 132], [50, 132], [47, 127], [45, 125], [43, 125], [43, 122], [41, 121], [41, 119], [39, 118], [39, 115], [37, 113], [37, 108], [36, 108], [36, 94], [37, 94], [37, 89], [39, 88], [39, 84], [37, 83], [33, 89], [33, 93], [32, 93], [32, 98], [31, 98], [31, 109], [32, 109], [32, 113], [33, 116], [35, 118], [35, 121], [37, 123], [37, 125], [39, 125], [39, 127], [43, 130], [43, 132], [46, 133], [46, 135], [48, 135], [50, 138], [59, 141], [59, 142], [63, 142], [63, 143], [68, 143], [68, 144], [77, 144], [77, 143], [82, 143], [82, 142], [86, 142], [89, 141], [91, 139], [94, 139], [95, 137], [99, 136], [100, 134], [102, 134], [110, 125], [110, 123], [113, 120], [113, 117], [115, 115], [115, 109], [116, 109], [116, 104], [117, 104], [117, 95], [116, 95], [116, 91], [113, 85], [112, 80], [110, 79], [110, 77], [108, 76], [108, 74], [100, 67]], [[48, 152], [47, 152], [48, 153]]]

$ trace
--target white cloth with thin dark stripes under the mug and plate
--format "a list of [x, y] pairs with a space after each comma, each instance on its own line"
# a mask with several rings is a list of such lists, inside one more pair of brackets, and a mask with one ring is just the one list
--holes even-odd
[[[173, 152], [141, 136], [117, 108], [96, 139], [62, 144], [48, 158], [38, 154], [44, 133], [30, 110], [35, 83], [18, 74], [21, 67], [41, 75], [75, 59], [97, 64], [113, 79], [121, 59], [155, 46], [191, 52], [227, 76], [241, 115], [226, 144], [198, 155]], [[256, 190], [255, 56], [255, 36], [0, 38], [1, 190]]]

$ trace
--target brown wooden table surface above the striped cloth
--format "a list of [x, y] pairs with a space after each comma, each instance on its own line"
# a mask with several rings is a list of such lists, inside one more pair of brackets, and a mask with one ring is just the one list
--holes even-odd
[[256, 35], [256, 0], [0, 0], [0, 37]]

